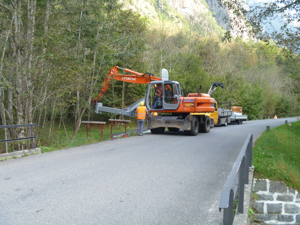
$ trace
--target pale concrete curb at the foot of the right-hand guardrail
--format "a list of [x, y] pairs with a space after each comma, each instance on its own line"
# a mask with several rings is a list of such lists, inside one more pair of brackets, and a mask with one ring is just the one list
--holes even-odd
[[233, 225], [240, 224], [251, 224], [249, 223], [249, 207], [251, 206], [251, 189], [253, 185], [253, 172], [254, 166], [249, 168], [249, 184], [245, 185], [244, 189], [244, 202], [243, 202], [243, 213], [234, 215]]

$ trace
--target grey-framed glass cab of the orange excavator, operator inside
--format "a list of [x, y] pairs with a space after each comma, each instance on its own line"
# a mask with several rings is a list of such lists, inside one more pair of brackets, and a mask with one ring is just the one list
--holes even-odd
[[148, 83], [146, 107], [149, 110], [176, 110], [179, 106], [180, 85], [176, 81], [159, 80]]

